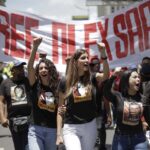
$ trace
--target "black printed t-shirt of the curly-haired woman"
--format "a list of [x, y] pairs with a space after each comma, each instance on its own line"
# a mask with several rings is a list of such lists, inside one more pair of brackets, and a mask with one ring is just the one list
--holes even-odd
[[56, 128], [57, 104], [52, 90], [39, 82], [35, 82], [31, 90], [31, 103], [30, 123]]

